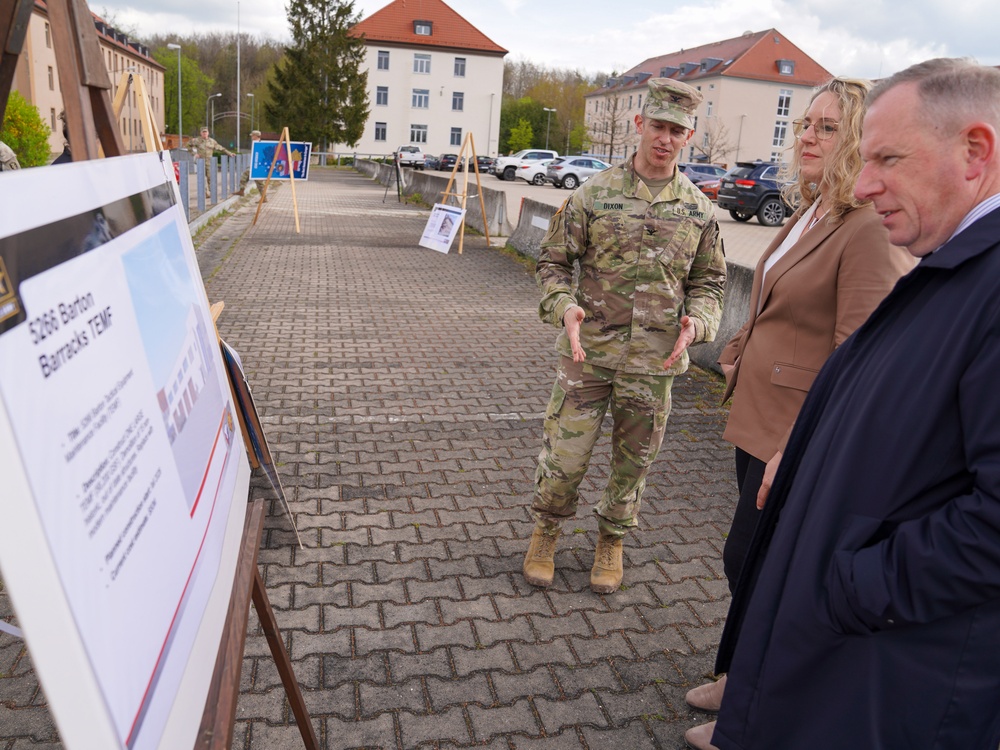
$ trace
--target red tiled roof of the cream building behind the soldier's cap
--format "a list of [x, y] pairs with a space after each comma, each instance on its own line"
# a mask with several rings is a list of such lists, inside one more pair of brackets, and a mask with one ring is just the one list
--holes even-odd
[[[794, 74], [781, 75], [778, 71], [778, 60], [794, 62]], [[667, 77], [685, 83], [696, 82], [702, 78], [728, 76], [799, 86], [819, 86], [832, 78], [822, 65], [788, 41], [781, 32], [767, 29], [651, 57], [618, 76], [618, 83], [615, 86], [592, 91], [587, 96], [600, 95], [612, 88], [627, 90], [644, 87], [650, 77], [660, 77], [664, 68], [674, 69]]]

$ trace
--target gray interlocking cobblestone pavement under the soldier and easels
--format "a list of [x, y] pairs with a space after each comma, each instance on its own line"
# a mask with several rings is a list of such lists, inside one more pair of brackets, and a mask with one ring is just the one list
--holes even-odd
[[[428, 212], [314, 169], [201, 240], [305, 543], [266, 480], [260, 565], [324, 748], [679, 748], [705, 718], [735, 502], [721, 383], [677, 378], [625, 583], [589, 590], [605, 434], [553, 587], [520, 574], [555, 330], [531, 271], [469, 236], [417, 247]], [[0, 594], [0, 616], [11, 615]], [[300, 748], [251, 613], [234, 748]], [[0, 634], [0, 748], [59, 747], [20, 642]]]

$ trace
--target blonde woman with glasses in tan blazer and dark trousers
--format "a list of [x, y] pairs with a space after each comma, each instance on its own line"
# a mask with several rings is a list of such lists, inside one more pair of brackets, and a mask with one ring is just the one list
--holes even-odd
[[[724, 399], [733, 398], [723, 437], [736, 447], [739, 500], [723, 550], [730, 591], [792, 424], [816, 374], [914, 260], [889, 236], [871, 204], [854, 197], [866, 81], [834, 78], [802, 119], [785, 199], [797, 206], [754, 270], [747, 322], [722, 350]], [[688, 691], [700, 711], [719, 710], [725, 676]], [[710, 750], [715, 722], [693, 727], [689, 747]]]

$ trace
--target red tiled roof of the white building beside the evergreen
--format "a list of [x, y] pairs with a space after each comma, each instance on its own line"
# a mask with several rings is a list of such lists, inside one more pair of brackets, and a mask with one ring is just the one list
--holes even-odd
[[[414, 21], [430, 21], [431, 35], [414, 33]], [[368, 41], [408, 47], [447, 47], [506, 55], [507, 50], [462, 18], [441, 0], [393, 0], [359, 21], [351, 30]]]

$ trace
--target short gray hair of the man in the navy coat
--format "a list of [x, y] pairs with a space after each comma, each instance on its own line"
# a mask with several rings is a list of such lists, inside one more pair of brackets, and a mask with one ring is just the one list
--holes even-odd
[[986, 120], [1000, 131], [1000, 70], [968, 57], [926, 60], [879, 81], [868, 94], [868, 106], [904, 83], [916, 84], [923, 105], [915, 117], [955, 130], [970, 120]]

